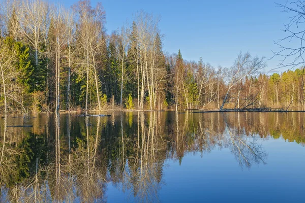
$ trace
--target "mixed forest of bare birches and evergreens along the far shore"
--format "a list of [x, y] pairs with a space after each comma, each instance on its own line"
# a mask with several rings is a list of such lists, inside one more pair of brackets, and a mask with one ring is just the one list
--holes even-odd
[[305, 110], [303, 66], [271, 75], [249, 52], [230, 67], [188, 61], [163, 50], [159, 22], [140, 11], [108, 35], [100, 3], [2, 0], [1, 111]]

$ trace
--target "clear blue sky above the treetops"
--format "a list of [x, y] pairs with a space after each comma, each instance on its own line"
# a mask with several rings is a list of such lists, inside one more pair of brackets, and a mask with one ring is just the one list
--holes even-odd
[[[51, 1], [51, 0], [50, 0]], [[60, 0], [59, 0], [60, 1]], [[70, 7], [76, 0], [61, 0]], [[132, 21], [133, 14], [144, 10], [160, 15], [160, 30], [165, 35], [164, 51], [181, 50], [187, 60], [204, 62], [214, 66], [229, 67], [239, 51], [252, 55], [273, 56], [271, 50], [279, 50], [273, 41], [285, 37], [282, 31], [288, 15], [276, 7], [275, 2], [286, 0], [92, 0], [101, 2], [106, 11], [107, 32]], [[265, 72], [274, 69], [281, 58], [267, 60]], [[283, 69], [280, 69], [283, 71]]]

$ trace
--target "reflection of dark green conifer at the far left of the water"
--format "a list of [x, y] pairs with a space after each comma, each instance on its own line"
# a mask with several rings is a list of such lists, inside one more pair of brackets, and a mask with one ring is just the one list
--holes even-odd
[[19, 143], [14, 137], [9, 140], [6, 125], [5, 119], [0, 164], [1, 182], [7, 187], [3, 201], [42, 202], [45, 200], [42, 194], [47, 191], [38, 167], [39, 160], [45, 160], [43, 139], [31, 132]]

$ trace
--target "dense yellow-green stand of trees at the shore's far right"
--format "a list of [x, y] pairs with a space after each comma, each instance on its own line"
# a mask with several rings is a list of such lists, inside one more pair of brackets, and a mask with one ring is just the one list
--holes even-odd
[[[245, 82], [237, 84], [232, 96], [238, 98], [238, 105], [247, 107], [272, 107], [284, 110], [305, 110], [304, 68], [286, 71], [281, 75], [273, 73], [271, 76], [260, 74], [255, 78], [246, 78]], [[233, 102], [234, 98], [232, 98]], [[234, 107], [236, 107], [236, 104]]]

